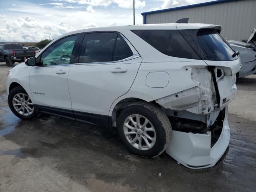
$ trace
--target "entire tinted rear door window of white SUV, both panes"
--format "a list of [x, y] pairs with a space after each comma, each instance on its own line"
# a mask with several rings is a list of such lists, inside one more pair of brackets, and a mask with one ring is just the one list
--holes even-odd
[[118, 33], [85, 34], [79, 63], [112, 62], [132, 56], [132, 50]]

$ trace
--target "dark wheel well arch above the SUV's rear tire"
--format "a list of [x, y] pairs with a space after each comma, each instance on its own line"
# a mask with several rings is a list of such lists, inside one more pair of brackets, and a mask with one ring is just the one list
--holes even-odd
[[138, 98], [126, 98], [126, 99], [123, 99], [121, 101], [119, 101], [116, 106], [114, 107], [114, 110], [112, 111], [112, 125], [113, 126], [116, 126], [116, 121], [117, 121], [117, 118], [119, 116], [119, 114], [122, 112], [122, 110], [124, 108], [126, 108], [126, 106], [132, 104], [133, 102], [138, 102], [138, 101], [141, 101], [141, 102], [145, 102], [145, 103], [152, 103], [152, 104], [155, 104], [158, 106], [158, 104], [154, 101], [152, 102], [147, 102], [145, 100], [142, 100], [142, 99], [138, 99]]

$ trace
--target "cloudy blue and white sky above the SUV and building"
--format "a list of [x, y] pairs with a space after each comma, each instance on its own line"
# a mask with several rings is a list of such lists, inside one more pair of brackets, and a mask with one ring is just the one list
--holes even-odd
[[[135, 0], [142, 12], [212, 0]], [[0, 42], [39, 42], [84, 28], [133, 24], [132, 0], [0, 0]]]

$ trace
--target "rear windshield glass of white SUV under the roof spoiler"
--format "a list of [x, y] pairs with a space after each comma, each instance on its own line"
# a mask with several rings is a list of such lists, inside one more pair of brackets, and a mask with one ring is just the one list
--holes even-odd
[[179, 30], [188, 43], [194, 48], [202, 60], [230, 61], [234, 50], [228, 42], [215, 30]]

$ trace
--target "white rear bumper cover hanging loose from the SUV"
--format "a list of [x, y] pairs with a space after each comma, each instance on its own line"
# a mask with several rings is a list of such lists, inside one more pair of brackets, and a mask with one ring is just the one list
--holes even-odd
[[226, 109], [220, 137], [212, 148], [211, 131], [207, 134], [173, 131], [166, 153], [188, 168], [200, 169], [214, 166], [229, 145], [230, 128], [227, 116], [228, 110]]

